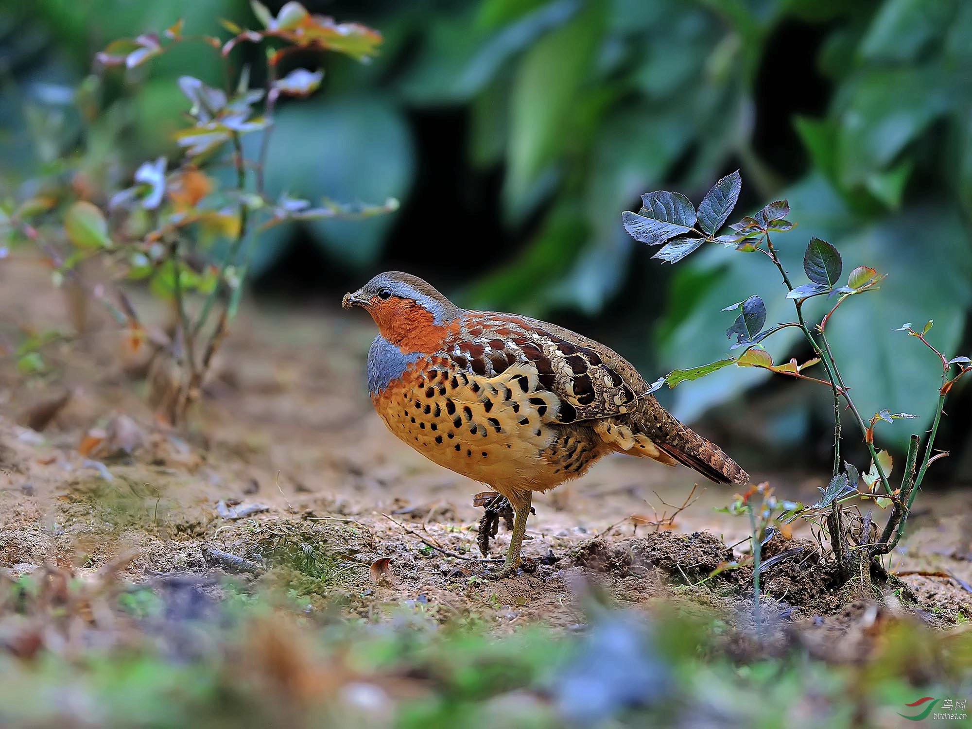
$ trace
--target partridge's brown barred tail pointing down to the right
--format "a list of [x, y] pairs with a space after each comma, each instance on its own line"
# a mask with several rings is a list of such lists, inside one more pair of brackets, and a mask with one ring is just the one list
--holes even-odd
[[641, 405], [641, 430], [659, 450], [715, 483], [749, 483], [749, 474], [725, 451], [680, 423], [657, 400], [649, 395]]

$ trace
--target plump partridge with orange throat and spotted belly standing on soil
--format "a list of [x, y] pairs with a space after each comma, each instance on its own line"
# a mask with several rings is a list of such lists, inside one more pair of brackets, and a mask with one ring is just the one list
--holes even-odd
[[682, 464], [723, 484], [749, 475], [680, 423], [634, 365], [593, 339], [517, 314], [464, 309], [417, 276], [386, 271], [344, 295], [378, 327], [371, 402], [388, 429], [513, 509], [500, 574], [517, 572], [533, 493], [608, 453]]

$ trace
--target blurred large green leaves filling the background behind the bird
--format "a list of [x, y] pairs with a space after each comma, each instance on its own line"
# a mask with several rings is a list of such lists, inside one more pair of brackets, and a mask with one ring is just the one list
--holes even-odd
[[[270, 3], [271, 11], [281, 4]], [[307, 6], [338, 20], [361, 19], [385, 41], [368, 66], [326, 61], [326, 93], [282, 105], [266, 172], [271, 195], [395, 196], [406, 214], [425, 162], [411, 116], [460, 109], [469, 124], [465, 158], [456, 164], [501, 171], [503, 226], [525, 238], [498, 267], [477, 272], [464, 303], [591, 314], [632, 275], [639, 244], [625, 234], [620, 211], [631, 209], [640, 192], [663, 187], [698, 200], [715, 179], [740, 167], [754, 188], [743, 207], [755, 210], [788, 197], [799, 212], [800, 227], [780, 236], [788, 267], [798, 269], [806, 240], [816, 235], [848, 260], [888, 272], [879, 295], [855, 301], [834, 323], [832, 341], [840, 352], [861, 355], [850, 358], [847, 376], [861, 383], [855, 398], [863, 410], [890, 406], [929, 415], [932, 399], [912, 383], [934, 381], [929, 375], [936, 364], [918, 348], [892, 355], [889, 330], [934, 319], [941, 346], [952, 350], [966, 326], [972, 301], [968, 3], [416, 0], [365, 9], [339, 2]], [[228, 0], [36, 0], [6, 9], [0, 25], [7, 69], [0, 92], [4, 176], [22, 180], [37, 162], [55, 164], [56, 145], [45, 140], [72, 134], [70, 112], [58, 99], [85, 78], [88, 59], [108, 41], [157, 30], [177, 17], [186, 18], [188, 30], [209, 32], [215, 17], [244, 21], [250, 12], [246, 3]], [[819, 40], [812, 49], [813, 79], [790, 79], [772, 68], [775, 44], [794, 27]], [[189, 71], [215, 83], [211, 53], [200, 46], [190, 55], [160, 59], [152, 80], [127, 99], [123, 84], [111, 89], [126, 103], [109, 110], [99, 121], [103, 131], [87, 140], [92, 174], [121, 180], [138, 160], [173, 151], [171, 131], [186, 102], [171, 79]], [[822, 89], [813, 92], [823, 94], [822, 102], [805, 101], [811, 83]], [[823, 108], [796, 113], [808, 104]], [[475, 225], [442, 212], [429, 225], [448, 235]], [[344, 267], [373, 269], [394, 225], [392, 217], [315, 222], [305, 233]], [[255, 268], [278, 260], [294, 236], [284, 226], [268, 230]], [[410, 247], [413, 241], [399, 246]], [[668, 287], [653, 338], [643, 337], [659, 371], [724, 354], [729, 315], [718, 311], [766, 294], [741, 258], [705, 251], [671, 278], [657, 261], [637, 274], [646, 286]], [[783, 320], [774, 306], [785, 302], [770, 304], [771, 323]], [[862, 347], [865, 330], [879, 335]], [[783, 332], [775, 359], [790, 354], [795, 335]], [[742, 377], [713, 374], [679, 389], [677, 414], [697, 416], [765, 376], [755, 368]]]

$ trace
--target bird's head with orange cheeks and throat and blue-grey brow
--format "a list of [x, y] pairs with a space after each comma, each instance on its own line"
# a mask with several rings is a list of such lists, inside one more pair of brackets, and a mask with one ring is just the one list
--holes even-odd
[[417, 276], [386, 271], [354, 294], [345, 294], [341, 306], [361, 306], [382, 336], [403, 351], [433, 351], [451, 329], [461, 309]]

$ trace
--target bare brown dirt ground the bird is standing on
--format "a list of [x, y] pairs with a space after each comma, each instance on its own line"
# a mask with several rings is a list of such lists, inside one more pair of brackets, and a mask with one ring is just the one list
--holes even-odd
[[[35, 261], [7, 261], [0, 311], [13, 341], [0, 344], [16, 346], [22, 330], [70, 330], [79, 320], [71, 300]], [[373, 328], [332, 304], [245, 308], [178, 430], [156, 422], [144, 355], [124, 354], [123, 332], [93, 304], [84, 337], [45, 349], [52, 374], [24, 377], [14, 358], [0, 360], [0, 568], [58, 564], [84, 575], [130, 557], [122, 573], [137, 582], [234, 573], [246, 584], [283, 584], [310, 604], [337, 597], [348, 614], [415, 601], [443, 617], [480, 616], [497, 631], [535, 621], [570, 628], [592, 590], [618, 604], [675, 601], [746, 619], [751, 570], [706, 579], [745, 553], [747, 521], [713, 510], [732, 492], [700, 482], [674, 529], [657, 530], [643, 522], [671, 514], [696, 478], [624, 456], [536, 497], [524, 546], [536, 571], [492, 578], [496, 565], [476, 547], [482, 509], [472, 505], [484, 487], [386, 432], [364, 386]], [[45, 408], [56, 414], [40, 433], [25, 427]], [[823, 485], [823, 474], [746, 466], [788, 499], [813, 502]], [[918, 605], [889, 593], [881, 609], [946, 627], [972, 615], [972, 494], [934, 486], [890, 562]], [[805, 626], [808, 642], [865, 619], [867, 601], [831, 591], [811, 527], [798, 522], [793, 539], [767, 546], [767, 557], [803, 547], [764, 574], [771, 614]], [[507, 540], [501, 528], [491, 556]], [[382, 558], [390, 574], [370, 574]]]

